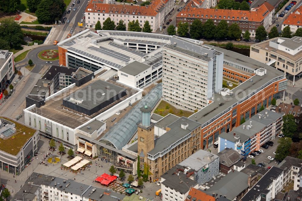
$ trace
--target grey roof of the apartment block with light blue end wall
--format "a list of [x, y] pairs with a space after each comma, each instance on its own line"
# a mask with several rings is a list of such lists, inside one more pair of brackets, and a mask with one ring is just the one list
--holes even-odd
[[[267, 112], [267, 114], [265, 114], [265, 112]], [[250, 137], [254, 136], [256, 133], [260, 132], [263, 128], [283, 116], [283, 114], [284, 113], [276, 113], [268, 109], [262, 110], [261, 112], [257, 113], [255, 116], [247, 120], [245, 123], [233, 129], [231, 132], [221, 133], [219, 137], [227, 139], [231, 142], [237, 142], [238, 139], [236, 139], [233, 135], [233, 133], [235, 133], [236, 136], [239, 136], [240, 142], [244, 142]], [[261, 117], [261, 119], [259, 119], [259, 116]], [[248, 126], [250, 126], [250, 124], [252, 124], [252, 128], [248, 129]], [[245, 126], [245, 129], [243, 129], [243, 126]]]

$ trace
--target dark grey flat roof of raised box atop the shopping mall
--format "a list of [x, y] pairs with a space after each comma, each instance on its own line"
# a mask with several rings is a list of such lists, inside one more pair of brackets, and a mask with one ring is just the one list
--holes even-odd
[[81, 103], [78, 104], [80, 107], [90, 110], [124, 90], [126, 89], [109, 82], [97, 80], [70, 94], [65, 100], [68, 101], [70, 98], [76, 99], [81, 101]]

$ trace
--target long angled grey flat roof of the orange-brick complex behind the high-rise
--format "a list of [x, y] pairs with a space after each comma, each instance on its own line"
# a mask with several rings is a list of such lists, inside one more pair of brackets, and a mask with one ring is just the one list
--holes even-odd
[[[210, 46], [210, 45], [208, 45]], [[213, 47], [213, 46], [210, 46]], [[237, 94], [237, 97], [244, 98], [243, 95], [248, 95], [253, 91], [259, 89], [260, 87], [264, 86], [266, 83], [272, 81], [273, 79], [284, 76], [285, 74], [277, 69], [266, 65], [265, 63], [259, 62], [255, 59], [252, 59], [248, 56], [244, 56], [242, 54], [226, 50], [219, 47], [214, 47], [220, 52], [224, 53], [224, 61], [230, 61], [232, 63], [247, 66], [251, 69], [259, 69], [265, 68], [266, 74], [263, 76], [254, 75], [249, 80], [241, 83], [236, 88], [232, 89], [234, 94]], [[252, 82], [250, 80], [253, 80]], [[236, 93], [238, 92], [238, 93]], [[236, 104], [239, 100], [235, 97], [230, 95], [222, 96], [220, 94], [214, 94], [214, 100], [212, 100], [211, 104], [204, 107], [203, 109], [199, 110], [197, 113], [192, 114], [189, 119], [198, 121], [199, 123], [205, 124], [211, 119], [213, 119], [218, 114], [222, 113], [223, 111], [227, 110], [229, 107], [231, 108], [234, 104]]]

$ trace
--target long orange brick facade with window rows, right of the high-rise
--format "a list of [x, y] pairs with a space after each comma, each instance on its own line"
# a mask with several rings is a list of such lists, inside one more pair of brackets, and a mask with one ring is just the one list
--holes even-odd
[[[233, 121], [234, 118], [236, 118], [235, 127], [237, 127], [237, 126], [240, 125], [240, 116], [242, 114], [244, 114], [243, 117], [245, 117], [245, 113], [247, 111], [250, 111], [249, 112], [249, 117], [251, 117], [251, 110], [252, 110], [253, 107], [256, 107], [255, 113], [257, 113], [257, 105], [259, 103], [263, 104], [263, 101], [265, 99], [267, 100], [267, 104], [266, 104], [265, 108], [268, 107], [268, 98], [271, 97], [271, 99], [272, 99], [273, 98], [272, 96], [274, 94], [276, 94], [276, 93], [279, 92], [278, 90], [275, 91], [275, 88], [278, 89], [279, 83], [282, 82], [282, 81], [284, 81], [284, 80], [285, 79], [282, 79], [282, 80], [279, 80], [278, 82], [274, 82], [271, 85], [268, 85], [265, 89], [263, 89], [262, 91], [259, 91], [257, 94], [253, 95], [248, 100], [242, 102], [241, 104], [236, 105], [236, 107], [232, 108], [232, 110], [230, 110], [230, 112], [224, 114], [220, 118], [216, 119], [215, 121], [213, 121], [209, 125], [207, 125], [204, 128], [202, 128], [201, 129], [201, 141], [200, 141], [201, 142], [201, 149], [203, 149], [203, 140], [205, 140], [205, 139], [207, 140], [207, 144], [206, 144], [206, 147], [205, 147], [205, 148], [207, 148], [208, 147], [208, 138], [210, 136], [213, 136], [213, 143], [214, 143], [214, 140], [215, 140], [214, 133], [217, 132], [217, 131], [219, 131], [219, 134], [220, 134], [220, 129], [223, 128], [223, 127], [226, 128], [226, 126], [229, 123], [230, 123], [230, 131], [231, 131], [233, 129], [232, 128], [232, 121]], [[275, 87], [275, 84], [277, 84], [276, 87]], [[233, 117], [232, 116], [232, 111], [235, 110], [235, 109], [237, 109], [237, 115]], [[228, 118], [231, 118], [231, 120], [229, 122], [226, 122], [226, 124], [224, 124], [223, 126], [221, 126], [221, 123], [224, 123], [224, 121], [227, 121]], [[220, 122], [218, 123], [218, 121], [220, 121]], [[215, 123], [217, 123], [217, 124], [215, 125]], [[220, 127], [217, 128], [217, 129], [215, 129], [215, 127], [218, 127], [218, 125], [220, 125]], [[211, 132], [210, 135], [207, 135], [205, 138], [203, 138], [203, 136], [206, 133], [208, 133], [209, 131], [212, 131], [212, 129], [214, 129], [214, 131]]]

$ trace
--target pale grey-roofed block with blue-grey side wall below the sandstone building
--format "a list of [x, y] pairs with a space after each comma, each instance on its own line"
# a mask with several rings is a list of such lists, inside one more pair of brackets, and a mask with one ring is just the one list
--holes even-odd
[[218, 175], [219, 156], [205, 150], [198, 150], [179, 165], [193, 169], [194, 180], [203, 184]]

